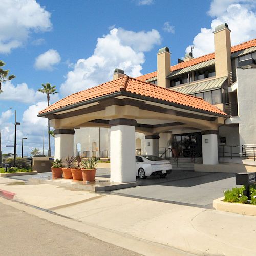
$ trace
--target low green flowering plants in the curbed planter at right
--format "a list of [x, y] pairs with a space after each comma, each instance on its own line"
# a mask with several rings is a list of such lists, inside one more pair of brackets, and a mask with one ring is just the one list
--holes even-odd
[[250, 186], [250, 197], [251, 200], [248, 200], [248, 197], [244, 195], [245, 186], [241, 188], [233, 187], [231, 190], [224, 191], [224, 202], [229, 203], [241, 203], [241, 204], [254, 204], [256, 205], [256, 185]]

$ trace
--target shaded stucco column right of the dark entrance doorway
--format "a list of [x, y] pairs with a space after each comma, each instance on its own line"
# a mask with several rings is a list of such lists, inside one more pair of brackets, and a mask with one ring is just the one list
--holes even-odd
[[203, 164], [218, 164], [218, 131], [202, 131]]

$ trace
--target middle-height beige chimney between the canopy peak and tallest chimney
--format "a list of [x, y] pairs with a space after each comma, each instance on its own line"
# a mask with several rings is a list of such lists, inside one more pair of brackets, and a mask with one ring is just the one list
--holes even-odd
[[158, 86], [170, 87], [170, 80], [166, 76], [170, 74], [170, 51], [168, 47], [158, 50], [157, 54], [157, 84]]

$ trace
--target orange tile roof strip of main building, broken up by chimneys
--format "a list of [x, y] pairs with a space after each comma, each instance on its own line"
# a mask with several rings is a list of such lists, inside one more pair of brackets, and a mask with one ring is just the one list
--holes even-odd
[[[244, 49], [248, 49], [248, 48], [253, 47], [253, 46], [256, 46], [256, 39], [250, 40], [248, 42], [243, 42], [242, 44], [239, 44], [239, 45], [236, 45], [236, 46], [232, 46], [231, 47], [231, 53], [238, 52], [238, 51], [241, 51], [241, 50], [244, 50]], [[190, 67], [190, 66], [193, 66], [193, 65], [196, 65], [196, 64], [199, 64], [201, 62], [205, 62], [207, 60], [214, 59], [214, 58], [215, 58], [215, 54], [210, 53], [210, 54], [207, 54], [207, 55], [195, 58], [195, 59], [191, 59], [189, 61], [184, 61], [184, 62], [178, 63], [174, 66], [171, 66], [170, 70], [173, 72], [175, 70], [187, 68], [187, 67]], [[141, 81], [146, 81], [147, 79], [150, 79], [150, 78], [153, 78], [153, 77], [156, 77], [156, 76], [157, 76], [157, 71], [151, 72], [151, 73], [139, 76], [139, 77], [136, 77], [136, 79], [139, 79]]]

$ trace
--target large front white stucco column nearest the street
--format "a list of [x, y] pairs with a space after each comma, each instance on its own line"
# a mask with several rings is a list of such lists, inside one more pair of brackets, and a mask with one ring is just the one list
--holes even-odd
[[136, 120], [110, 120], [110, 181], [136, 181], [135, 126]]

